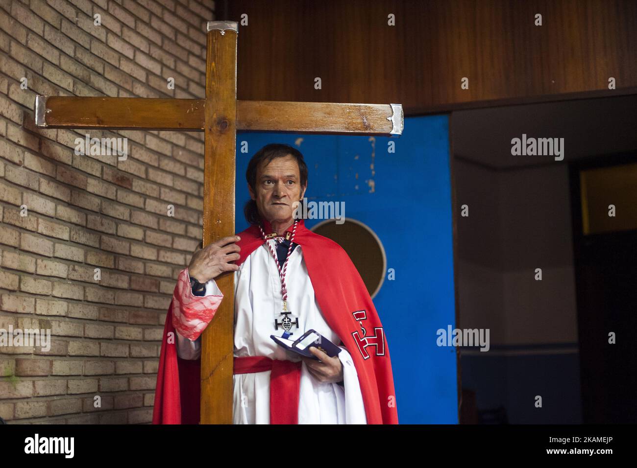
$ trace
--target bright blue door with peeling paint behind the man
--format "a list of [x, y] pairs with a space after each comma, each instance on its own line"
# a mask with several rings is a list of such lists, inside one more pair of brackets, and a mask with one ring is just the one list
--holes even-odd
[[248, 227], [248, 161], [268, 143], [303, 153], [308, 201], [345, 202], [345, 216], [382, 243], [393, 274], [374, 304], [389, 343], [399, 422], [457, 423], [455, 348], [436, 345], [436, 330], [455, 328], [448, 117], [406, 118], [400, 138], [238, 134], [236, 232]]

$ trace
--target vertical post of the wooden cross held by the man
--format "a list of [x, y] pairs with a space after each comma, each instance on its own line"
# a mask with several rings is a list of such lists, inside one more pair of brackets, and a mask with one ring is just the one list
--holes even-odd
[[[234, 234], [237, 23], [208, 23], [204, 150], [204, 245]], [[217, 280], [221, 306], [202, 335], [201, 423], [233, 422], [234, 275]]]

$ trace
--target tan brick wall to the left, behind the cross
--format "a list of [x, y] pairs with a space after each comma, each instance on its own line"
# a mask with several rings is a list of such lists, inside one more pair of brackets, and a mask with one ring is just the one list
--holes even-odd
[[[201, 240], [203, 134], [36, 129], [34, 101], [204, 97], [213, 8], [0, 0], [0, 329], [52, 334], [49, 351], [0, 347], [10, 423], [151, 420], [166, 308]], [[75, 155], [87, 132], [128, 138], [128, 158]]]

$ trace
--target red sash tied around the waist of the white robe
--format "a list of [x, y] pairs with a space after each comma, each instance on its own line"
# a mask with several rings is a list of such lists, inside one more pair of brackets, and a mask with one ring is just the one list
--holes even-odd
[[233, 374], [270, 374], [270, 424], [299, 423], [301, 361], [271, 359], [265, 356], [234, 358]]

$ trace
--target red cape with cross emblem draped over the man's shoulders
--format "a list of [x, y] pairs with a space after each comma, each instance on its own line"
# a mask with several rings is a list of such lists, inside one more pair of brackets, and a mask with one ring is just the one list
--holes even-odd
[[[269, 225], [265, 224], [267, 234]], [[264, 243], [259, 227], [255, 225], [239, 236], [241, 258], [236, 262], [238, 265]], [[299, 220], [294, 242], [303, 248], [303, 259], [327, 325], [352, 355], [368, 424], [397, 424], [389, 347], [361, 275], [340, 245], [311, 232], [303, 220]], [[201, 362], [177, 357], [172, 306], [166, 315], [159, 356], [153, 423], [197, 424]], [[169, 332], [173, 332], [175, 343], [168, 343]]]

